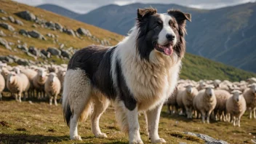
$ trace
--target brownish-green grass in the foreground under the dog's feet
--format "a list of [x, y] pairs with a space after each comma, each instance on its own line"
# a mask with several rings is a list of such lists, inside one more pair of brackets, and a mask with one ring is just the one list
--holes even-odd
[[[79, 123], [79, 135], [83, 141], [69, 140], [69, 129], [63, 121], [60, 105], [50, 106], [46, 101], [32, 100], [33, 104], [17, 103], [10, 97], [0, 102], [0, 143], [128, 143], [128, 136], [119, 131], [114, 119], [114, 110], [110, 106], [100, 119], [102, 132], [108, 138], [99, 139], [92, 135], [90, 120]], [[247, 114], [241, 119], [241, 127], [220, 121], [202, 124], [201, 120], [185, 119], [184, 116], [169, 115], [166, 106], [161, 112], [159, 135], [167, 143], [204, 143], [198, 137], [184, 135], [183, 132], [195, 132], [225, 140], [228, 143], [252, 143], [256, 136], [256, 121], [249, 120]], [[140, 119], [140, 135], [144, 143], [150, 143], [145, 132], [144, 116]]]

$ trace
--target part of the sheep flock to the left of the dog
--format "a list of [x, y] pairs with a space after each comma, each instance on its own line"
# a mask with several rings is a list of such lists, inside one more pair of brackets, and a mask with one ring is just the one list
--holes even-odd
[[52, 105], [54, 98], [55, 105], [57, 105], [57, 95], [63, 87], [66, 69], [65, 64], [12, 67], [6, 63], [0, 63], [0, 100], [5, 89], [11, 92], [15, 100], [19, 102], [21, 102], [22, 95], [24, 100], [28, 96], [42, 99], [46, 97], [46, 93], [49, 97], [49, 104]]

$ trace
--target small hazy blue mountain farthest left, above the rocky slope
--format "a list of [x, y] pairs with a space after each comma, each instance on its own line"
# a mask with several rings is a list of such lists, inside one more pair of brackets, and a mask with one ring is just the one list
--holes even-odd
[[60, 7], [60, 6], [57, 6], [55, 4], [41, 4], [41, 5], [36, 6], [36, 7], [39, 7], [41, 9], [45, 9], [45, 10], [50, 11], [50, 12], [55, 12], [59, 15], [63, 15], [65, 17], [70, 17], [70, 18], [73, 18], [73, 19], [75, 17], [79, 16], [78, 13], [72, 12], [71, 10], [65, 9], [64, 7]]

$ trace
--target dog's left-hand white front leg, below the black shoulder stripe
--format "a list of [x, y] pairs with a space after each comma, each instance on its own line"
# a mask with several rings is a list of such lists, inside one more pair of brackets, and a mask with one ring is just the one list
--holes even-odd
[[137, 106], [132, 111], [127, 109], [127, 120], [129, 125], [129, 143], [143, 144], [143, 140], [140, 138], [140, 124], [138, 119]]

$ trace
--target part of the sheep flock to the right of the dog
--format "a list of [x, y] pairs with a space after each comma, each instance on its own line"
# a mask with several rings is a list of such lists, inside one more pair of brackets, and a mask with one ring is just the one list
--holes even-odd
[[[252, 112], [256, 119], [256, 78], [247, 81], [231, 82], [218, 79], [179, 80], [175, 92], [167, 101], [168, 112], [185, 114], [188, 119], [201, 117], [207, 119], [233, 122], [240, 127], [240, 119], [246, 110], [249, 119]], [[170, 109], [171, 108], [171, 109]]]

